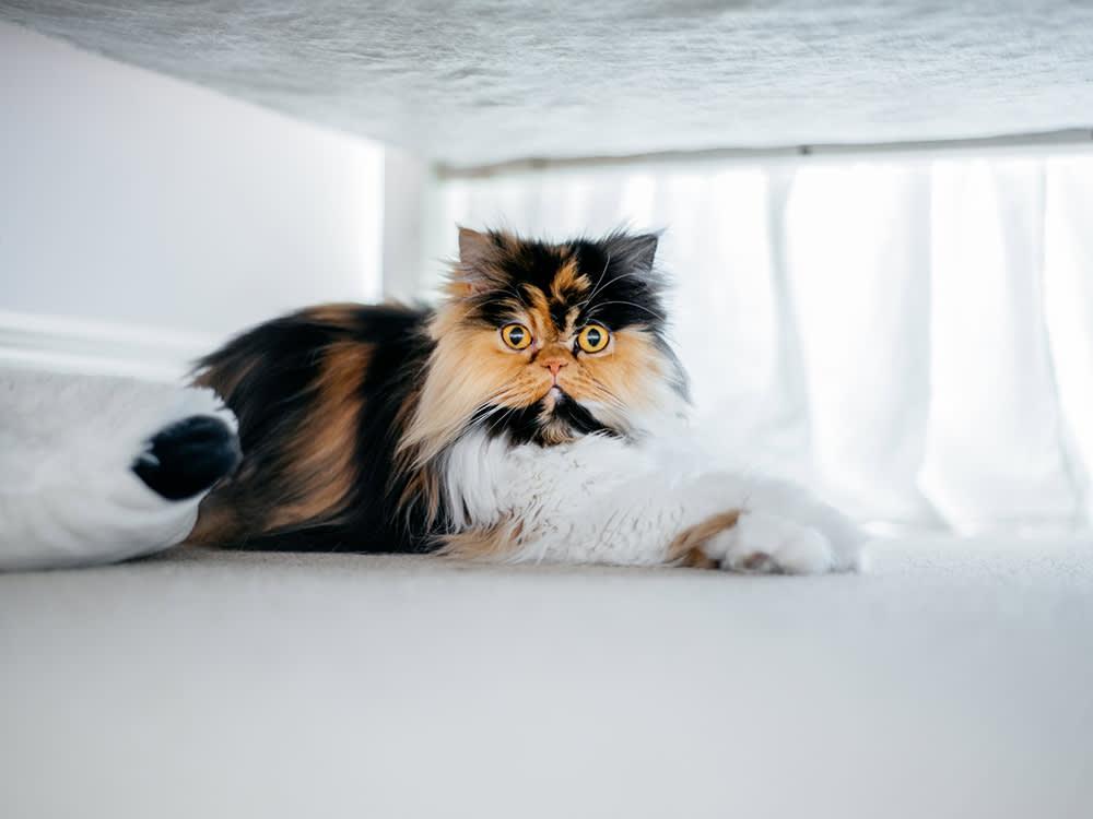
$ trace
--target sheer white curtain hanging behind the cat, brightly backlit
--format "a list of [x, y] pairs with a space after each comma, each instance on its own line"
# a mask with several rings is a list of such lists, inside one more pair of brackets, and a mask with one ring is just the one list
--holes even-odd
[[1091, 156], [545, 170], [444, 182], [434, 211], [433, 259], [455, 223], [666, 228], [674, 340], [727, 456], [866, 521], [1090, 524]]

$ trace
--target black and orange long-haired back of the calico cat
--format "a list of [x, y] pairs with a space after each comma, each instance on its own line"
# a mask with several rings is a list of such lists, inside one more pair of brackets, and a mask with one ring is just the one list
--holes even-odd
[[383, 522], [395, 428], [428, 358], [430, 317], [395, 304], [318, 305], [201, 359], [195, 380], [236, 414], [244, 456], [202, 505], [191, 541], [326, 549], [339, 546], [331, 533]]

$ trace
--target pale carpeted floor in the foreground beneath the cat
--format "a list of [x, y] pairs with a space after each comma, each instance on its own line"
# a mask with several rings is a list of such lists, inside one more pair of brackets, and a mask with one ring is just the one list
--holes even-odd
[[1088, 817], [1093, 544], [0, 575], [4, 817]]

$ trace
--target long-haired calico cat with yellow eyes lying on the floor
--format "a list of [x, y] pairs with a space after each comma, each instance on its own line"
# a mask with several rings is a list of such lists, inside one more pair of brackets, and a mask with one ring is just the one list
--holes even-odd
[[853, 568], [860, 538], [834, 509], [672, 443], [687, 389], [656, 250], [463, 228], [435, 309], [325, 305], [228, 342], [196, 383], [237, 416], [243, 460], [190, 542]]

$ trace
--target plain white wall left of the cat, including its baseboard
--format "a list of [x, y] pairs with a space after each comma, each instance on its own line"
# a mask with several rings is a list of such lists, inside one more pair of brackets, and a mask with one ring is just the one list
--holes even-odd
[[0, 361], [165, 371], [380, 293], [384, 151], [0, 24]]

